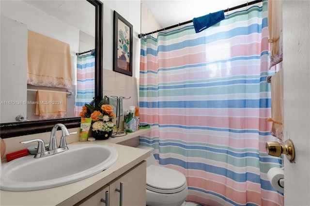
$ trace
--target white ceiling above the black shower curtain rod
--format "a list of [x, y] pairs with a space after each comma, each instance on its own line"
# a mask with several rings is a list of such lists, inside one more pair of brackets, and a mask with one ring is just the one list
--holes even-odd
[[[247, 0], [141, 0], [157, 22], [167, 28], [209, 13], [247, 3]], [[226, 15], [226, 13], [225, 13]], [[151, 32], [151, 31], [150, 31]]]

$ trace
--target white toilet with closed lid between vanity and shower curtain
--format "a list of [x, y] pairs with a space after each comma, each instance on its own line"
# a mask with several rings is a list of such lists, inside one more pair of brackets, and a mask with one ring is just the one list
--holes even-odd
[[146, 160], [146, 205], [181, 206], [188, 194], [185, 176], [179, 171], [160, 166], [153, 155], [154, 148], [138, 146], [151, 151]]

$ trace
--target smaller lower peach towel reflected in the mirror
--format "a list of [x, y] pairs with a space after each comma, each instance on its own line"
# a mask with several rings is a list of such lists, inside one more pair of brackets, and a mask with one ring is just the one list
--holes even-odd
[[35, 114], [39, 119], [65, 118], [66, 98], [66, 92], [38, 89]]

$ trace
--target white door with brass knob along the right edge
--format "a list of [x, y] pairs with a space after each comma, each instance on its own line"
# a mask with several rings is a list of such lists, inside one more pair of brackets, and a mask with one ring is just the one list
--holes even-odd
[[283, 0], [284, 139], [292, 139], [294, 163], [284, 157], [284, 205], [310, 205], [310, 1]]

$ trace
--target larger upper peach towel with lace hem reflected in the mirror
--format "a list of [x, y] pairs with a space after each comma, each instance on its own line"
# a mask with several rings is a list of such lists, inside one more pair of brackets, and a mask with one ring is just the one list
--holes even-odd
[[70, 45], [28, 30], [27, 84], [71, 89]]

